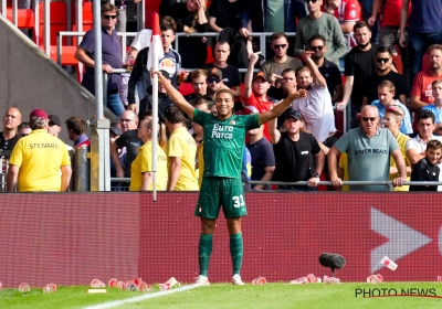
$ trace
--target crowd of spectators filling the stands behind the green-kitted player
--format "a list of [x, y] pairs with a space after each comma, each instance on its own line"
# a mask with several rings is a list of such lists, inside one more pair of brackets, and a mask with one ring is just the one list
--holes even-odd
[[[278, 119], [249, 132], [244, 158], [250, 151], [251, 169], [248, 171], [245, 162], [245, 182], [248, 177], [262, 181], [307, 181], [306, 187], [280, 185], [280, 189], [316, 190], [319, 177], [325, 174], [337, 188], [341, 187], [341, 180], [391, 180], [394, 190], [403, 191], [408, 188], [402, 182], [412, 175], [411, 179], [428, 180], [422, 179], [425, 169], [433, 175], [438, 170], [438, 177], [432, 179], [439, 179], [440, 174], [441, 147], [436, 140], [442, 141], [441, 6], [442, 0], [212, 0], [208, 7], [206, 0], [162, 0], [159, 13], [164, 56], [159, 70], [178, 89], [189, 83], [193, 93], [185, 99], [204, 113], [219, 113], [214, 102], [220, 89], [232, 90], [238, 114], [267, 111], [292, 93], [307, 92], [305, 98], [294, 100]], [[127, 65], [120, 56], [115, 31], [117, 12], [118, 8], [110, 3], [101, 11], [102, 68], [110, 76], [105, 104], [119, 118], [110, 130], [109, 156], [115, 177], [134, 179], [130, 190], [148, 190], [151, 189], [148, 157], [152, 132], [157, 131], [151, 122], [154, 94], [147, 66], [148, 36], [141, 31], [128, 52], [136, 60], [128, 92], [122, 97], [122, 77], [112, 74], [114, 68]], [[220, 33], [220, 40], [191, 35], [210, 31]], [[273, 32], [267, 38], [266, 55], [261, 54], [250, 36], [262, 31]], [[285, 33], [294, 31], [295, 38]], [[189, 34], [179, 39], [179, 52], [172, 49], [176, 32]], [[76, 58], [86, 66], [83, 85], [91, 93], [95, 92], [94, 40], [93, 32], [87, 32], [76, 52]], [[232, 64], [232, 54], [242, 51], [238, 45], [246, 51], [243, 76], [238, 65]], [[213, 63], [207, 63], [208, 46], [212, 46]], [[398, 53], [400, 57], [396, 57]], [[157, 188], [198, 190], [203, 128], [192, 124], [169, 95], [159, 83], [161, 170]], [[349, 117], [348, 131], [336, 129], [335, 117], [339, 113]], [[60, 119], [53, 115], [42, 119], [48, 120], [49, 132], [56, 137], [62, 127]], [[1, 149], [12, 150], [18, 142], [20, 122], [19, 110], [8, 109], [0, 136]], [[90, 145], [84, 120], [71, 117], [65, 124], [74, 147]], [[27, 127], [23, 125], [21, 129], [23, 138], [27, 137]], [[253, 189], [271, 187], [259, 184]]]

